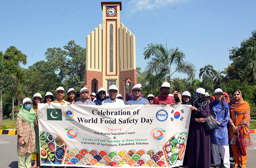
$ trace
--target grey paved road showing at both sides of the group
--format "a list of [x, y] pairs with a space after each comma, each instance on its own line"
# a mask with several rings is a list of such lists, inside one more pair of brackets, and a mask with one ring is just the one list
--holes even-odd
[[[256, 134], [251, 134], [252, 146], [247, 150], [247, 168], [256, 167]], [[17, 135], [0, 135], [0, 168], [17, 168]], [[231, 164], [234, 164], [231, 158]], [[212, 167], [215, 166], [212, 164]]]

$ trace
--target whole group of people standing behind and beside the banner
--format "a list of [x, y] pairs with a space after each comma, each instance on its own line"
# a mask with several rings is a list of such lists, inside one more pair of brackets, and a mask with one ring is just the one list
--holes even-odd
[[[223, 159], [225, 168], [230, 168], [230, 153], [235, 157], [235, 164], [232, 168], [246, 167], [246, 156], [237, 156], [237, 128], [242, 131], [245, 150], [247, 146], [252, 145], [249, 125], [250, 125], [250, 106], [248, 102], [242, 98], [242, 93], [239, 90], [234, 90], [231, 94], [231, 101], [228, 93], [223, 92], [220, 88], [214, 91], [214, 95], [210, 96], [203, 88], [196, 89], [193, 97], [188, 91], [182, 94], [174, 91], [170, 94], [171, 86], [168, 82], [161, 85], [161, 95], [154, 97], [149, 94], [147, 99], [141, 93], [141, 84], [136, 84], [132, 88], [132, 95], [126, 102], [126, 105], [191, 105], [191, 118], [189, 125], [189, 133], [187, 138], [187, 148], [185, 151], [183, 164], [186, 167], [211, 167], [211, 150], [214, 164], [216, 168], [220, 167], [220, 154]], [[18, 129], [18, 164], [19, 168], [30, 168], [31, 160], [35, 160], [32, 167], [40, 167], [40, 145], [38, 131], [38, 103], [47, 104], [84, 104], [84, 105], [125, 105], [123, 97], [118, 96], [116, 85], [111, 85], [108, 88], [108, 93], [104, 88], [97, 91], [97, 95], [93, 92], [89, 99], [89, 89], [86, 87], [77, 91], [73, 88], [68, 89], [68, 99], [64, 100], [65, 90], [63, 87], [56, 89], [56, 97], [51, 92], [46, 92], [44, 100], [40, 93], [33, 96], [33, 101], [30, 98], [23, 99], [23, 105], [17, 115]], [[80, 99], [78, 99], [80, 96]], [[42, 101], [43, 100], [43, 101]], [[33, 107], [32, 107], [33, 104]], [[205, 118], [212, 113], [215, 122], [219, 128], [212, 131], [207, 131], [204, 128]], [[231, 147], [231, 150], [230, 148]]]

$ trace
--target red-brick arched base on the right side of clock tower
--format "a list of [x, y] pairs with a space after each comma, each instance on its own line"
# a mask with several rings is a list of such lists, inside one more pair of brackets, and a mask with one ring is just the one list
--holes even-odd
[[125, 86], [126, 83], [130, 82], [130, 92], [132, 92], [132, 87], [137, 84], [137, 71], [136, 69], [125, 70], [120, 72], [120, 91], [119, 93], [126, 99]]

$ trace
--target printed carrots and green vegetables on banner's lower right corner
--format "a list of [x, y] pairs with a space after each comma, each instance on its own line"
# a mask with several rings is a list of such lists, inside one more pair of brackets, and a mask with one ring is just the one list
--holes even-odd
[[177, 160], [182, 160], [185, 153], [185, 143], [187, 141], [187, 133], [182, 132], [174, 135], [165, 145], [164, 152], [169, 165], [174, 164]]

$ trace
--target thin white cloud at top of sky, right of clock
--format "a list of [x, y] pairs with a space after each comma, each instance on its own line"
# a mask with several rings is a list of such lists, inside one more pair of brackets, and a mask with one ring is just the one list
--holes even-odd
[[[128, 4], [133, 6], [132, 11], [135, 12], [142, 10], [152, 11], [181, 1], [185, 0], [132, 0]], [[177, 7], [174, 6], [171, 9], [176, 10]]]

